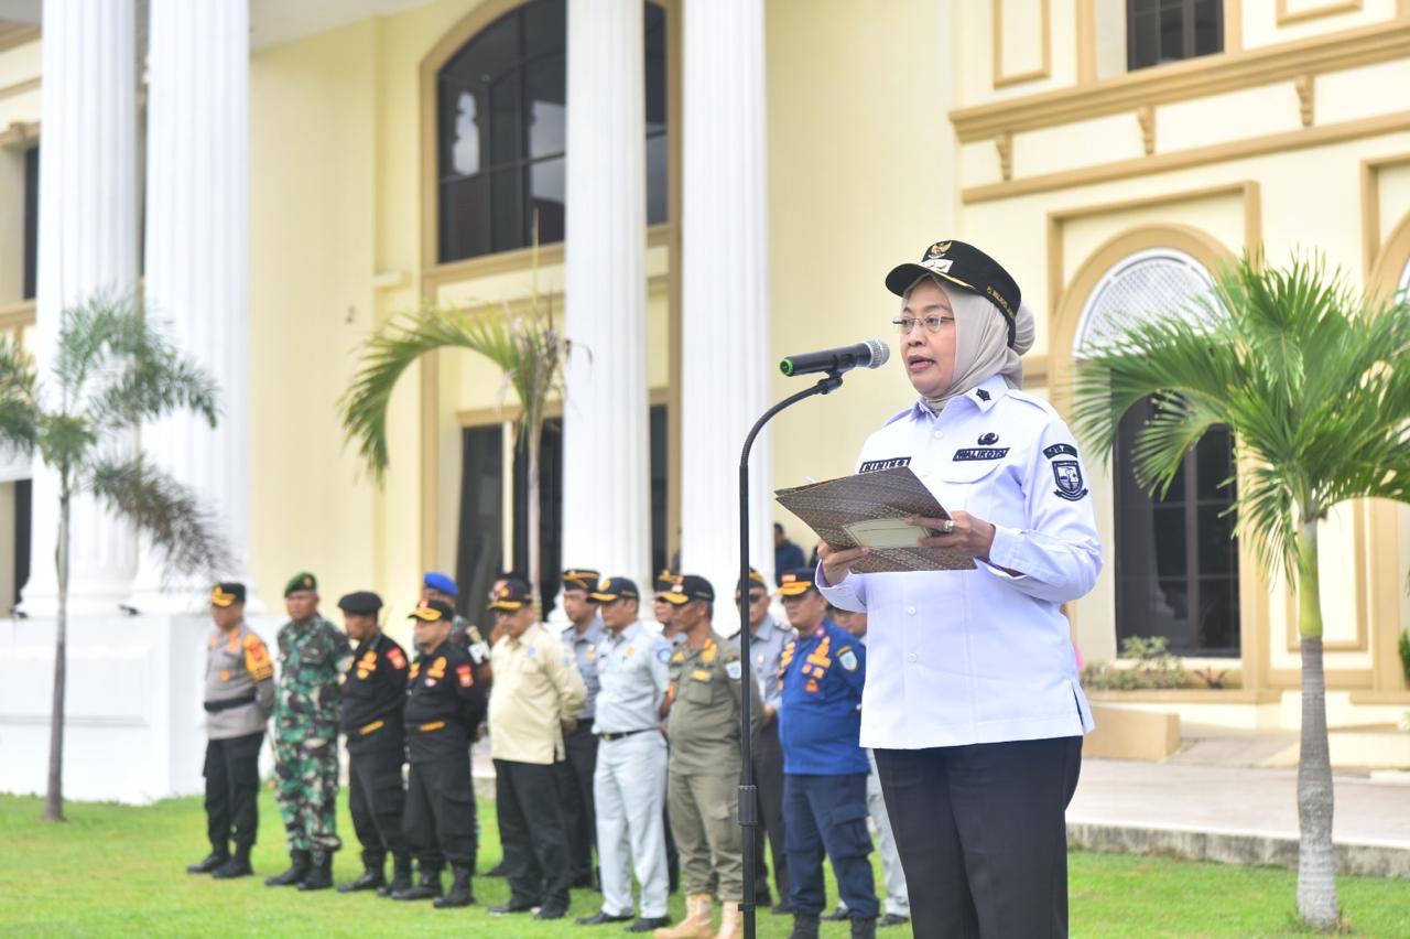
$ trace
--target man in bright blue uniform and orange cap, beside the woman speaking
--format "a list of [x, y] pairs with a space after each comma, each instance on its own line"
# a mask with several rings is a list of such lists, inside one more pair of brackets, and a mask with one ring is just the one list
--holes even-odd
[[826, 895], [822, 857], [838, 876], [838, 892], [853, 936], [874, 936], [876, 881], [867, 830], [867, 754], [857, 743], [866, 647], [828, 619], [828, 601], [811, 568], [778, 577], [788, 625], [798, 637], [784, 646], [778, 667], [783, 704], [778, 737], [784, 749], [784, 843], [792, 876], [790, 939], [816, 939]]

